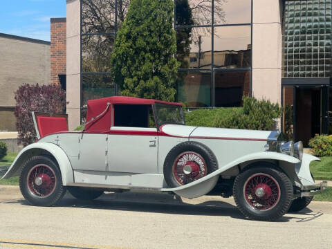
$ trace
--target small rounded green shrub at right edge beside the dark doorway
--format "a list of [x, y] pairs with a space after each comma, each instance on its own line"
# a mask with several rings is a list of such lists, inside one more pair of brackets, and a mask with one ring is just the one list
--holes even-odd
[[316, 135], [309, 140], [308, 145], [316, 156], [332, 156], [332, 136]]

